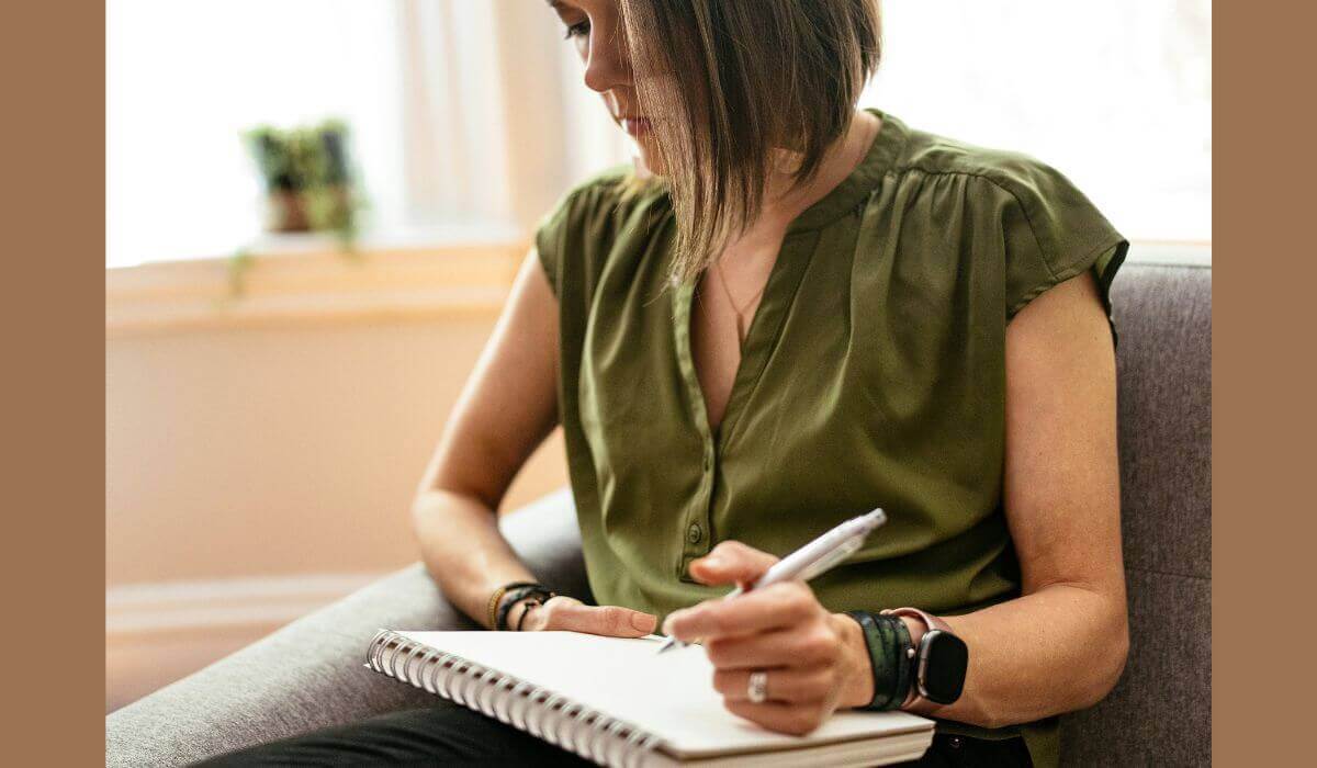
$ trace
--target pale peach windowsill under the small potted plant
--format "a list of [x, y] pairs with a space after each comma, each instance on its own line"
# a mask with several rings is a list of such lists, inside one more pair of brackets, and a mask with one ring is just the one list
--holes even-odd
[[107, 269], [105, 336], [497, 315], [527, 248], [490, 228], [370, 236], [353, 254], [329, 236], [266, 234], [241, 295], [225, 257]]

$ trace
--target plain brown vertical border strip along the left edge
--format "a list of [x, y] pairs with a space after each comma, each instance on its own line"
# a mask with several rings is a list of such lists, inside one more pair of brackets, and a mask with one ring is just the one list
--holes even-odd
[[3, 755], [94, 765], [105, 668], [94, 642], [105, 614], [104, 5], [5, 4], [0, 36]]

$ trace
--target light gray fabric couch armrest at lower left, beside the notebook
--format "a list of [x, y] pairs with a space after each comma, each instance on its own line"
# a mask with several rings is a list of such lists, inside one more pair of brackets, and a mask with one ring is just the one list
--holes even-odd
[[[500, 530], [551, 589], [591, 602], [568, 489]], [[375, 630], [475, 630], [412, 565], [105, 718], [105, 764], [182, 765], [249, 744], [425, 706], [435, 697], [362, 665]]]

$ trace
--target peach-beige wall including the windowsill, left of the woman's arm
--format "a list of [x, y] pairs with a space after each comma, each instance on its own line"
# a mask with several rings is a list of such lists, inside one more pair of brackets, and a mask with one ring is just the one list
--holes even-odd
[[[416, 559], [410, 502], [522, 246], [107, 279], [107, 709]], [[227, 307], [227, 308], [221, 308]], [[551, 437], [504, 501], [565, 485]]]

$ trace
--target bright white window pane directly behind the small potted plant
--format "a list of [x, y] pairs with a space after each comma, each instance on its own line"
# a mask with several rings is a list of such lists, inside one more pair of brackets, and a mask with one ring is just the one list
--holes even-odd
[[398, 209], [392, 3], [111, 0], [107, 265], [232, 253], [261, 229], [240, 133], [349, 121], [367, 194]]

